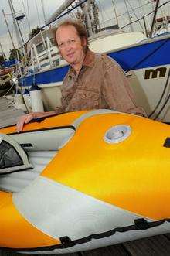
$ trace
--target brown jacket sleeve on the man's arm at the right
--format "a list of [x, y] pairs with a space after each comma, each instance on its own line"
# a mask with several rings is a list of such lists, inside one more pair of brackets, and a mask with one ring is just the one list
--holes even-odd
[[110, 109], [145, 116], [145, 111], [134, 101], [134, 93], [121, 67], [113, 60], [104, 62], [102, 94]]

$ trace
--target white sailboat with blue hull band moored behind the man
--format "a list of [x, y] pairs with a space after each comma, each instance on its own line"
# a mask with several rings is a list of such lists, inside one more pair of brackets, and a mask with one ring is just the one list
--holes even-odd
[[[49, 19], [53, 22], [74, 1], [66, 1]], [[159, 2], [159, 1], [158, 1]], [[154, 16], [158, 11], [158, 2]], [[168, 4], [168, 2], [167, 2]], [[155, 20], [149, 33], [124, 32], [122, 29], [107, 27], [101, 29], [95, 1], [80, 1], [76, 8], [80, 19], [86, 21], [90, 36], [90, 49], [107, 53], [117, 60], [127, 73], [137, 103], [145, 108], [148, 117], [170, 121], [169, 111], [169, 58], [170, 33], [155, 36]], [[160, 6], [159, 6], [160, 7]], [[54, 29], [47, 29], [34, 36], [25, 49], [29, 63], [22, 73], [19, 85], [30, 90], [32, 83], [42, 88], [42, 100], [46, 111], [60, 104], [60, 85], [68, 70], [68, 64], [59, 56], [54, 42]], [[34, 110], [36, 111], [36, 110]]]

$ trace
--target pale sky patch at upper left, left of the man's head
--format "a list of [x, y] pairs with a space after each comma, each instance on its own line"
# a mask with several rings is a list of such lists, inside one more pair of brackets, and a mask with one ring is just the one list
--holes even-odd
[[[12, 0], [15, 12], [22, 11], [26, 14], [26, 17], [22, 20], [22, 22], [19, 22], [22, 29], [22, 35], [25, 39], [28, 39], [30, 30], [36, 28], [37, 26], [44, 25], [42, 2], [44, 3], [46, 19], [48, 19], [49, 16], [52, 15], [53, 12], [63, 3], [63, 0]], [[12, 49], [12, 42], [8, 35], [8, 29], [5, 25], [2, 9], [4, 9], [9, 30], [12, 34], [12, 38], [15, 41], [15, 30], [12, 23], [12, 15], [10, 14], [11, 12], [9, 9], [8, 0], [0, 0], [0, 43], [2, 43], [2, 49], [5, 54], [8, 54], [8, 50]]]

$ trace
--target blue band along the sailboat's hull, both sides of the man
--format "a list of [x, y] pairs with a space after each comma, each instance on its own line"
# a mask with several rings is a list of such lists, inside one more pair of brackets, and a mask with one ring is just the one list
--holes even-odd
[[[148, 41], [147, 41], [148, 42]], [[121, 65], [125, 72], [130, 70], [147, 69], [149, 67], [166, 66], [170, 63], [170, 36], [160, 36], [160, 39], [150, 39], [150, 41], [138, 43], [128, 48], [114, 50], [107, 53]], [[27, 75], [22, 77], [22, 86], [29, 87], [35, 79], [36, 84], [51, 84], [61, 82], [65, 77], [69, 66], [56, 67], [50, 70]]]

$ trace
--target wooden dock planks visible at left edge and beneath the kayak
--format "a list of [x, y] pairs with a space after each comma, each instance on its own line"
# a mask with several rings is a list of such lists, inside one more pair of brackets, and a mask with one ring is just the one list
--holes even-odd
[[[15, 125], [19, 116], [24, 114], [16, 110], [12, 101], [0, 98], [0, 127]], [[0, 227], [1, 228], [1, 227]], [[28, 237], [29, 239], [29, 237]], [[15, 251], [1, 251], [0, 256], [21, 255]], [[28, 254], [24, 254], [28, 255]], [[44, 254], [46, 255], [46, 254]], [[83, 251], [74, 254], [57, 254], [63, 256], [170, 256], [170, 234], [148, 237], [137, 241], [116, 244], [93, 251]]]

